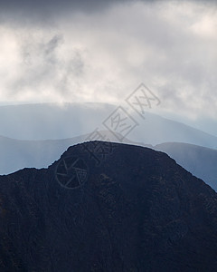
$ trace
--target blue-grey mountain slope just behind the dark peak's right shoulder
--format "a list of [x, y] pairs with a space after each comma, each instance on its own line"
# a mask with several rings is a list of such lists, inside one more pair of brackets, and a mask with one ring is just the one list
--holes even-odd
[[165, 142], [154, 148], [168, 154], [184, 169], [217, 191], [217, 150], [183, 142]]

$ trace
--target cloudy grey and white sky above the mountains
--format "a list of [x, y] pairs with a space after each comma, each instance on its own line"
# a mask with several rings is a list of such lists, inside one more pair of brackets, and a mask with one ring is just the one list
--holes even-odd
[[140, 83], [153, 111], [217, 135], [215, 1], [0, 3], [0, 104], [121, 104]]

